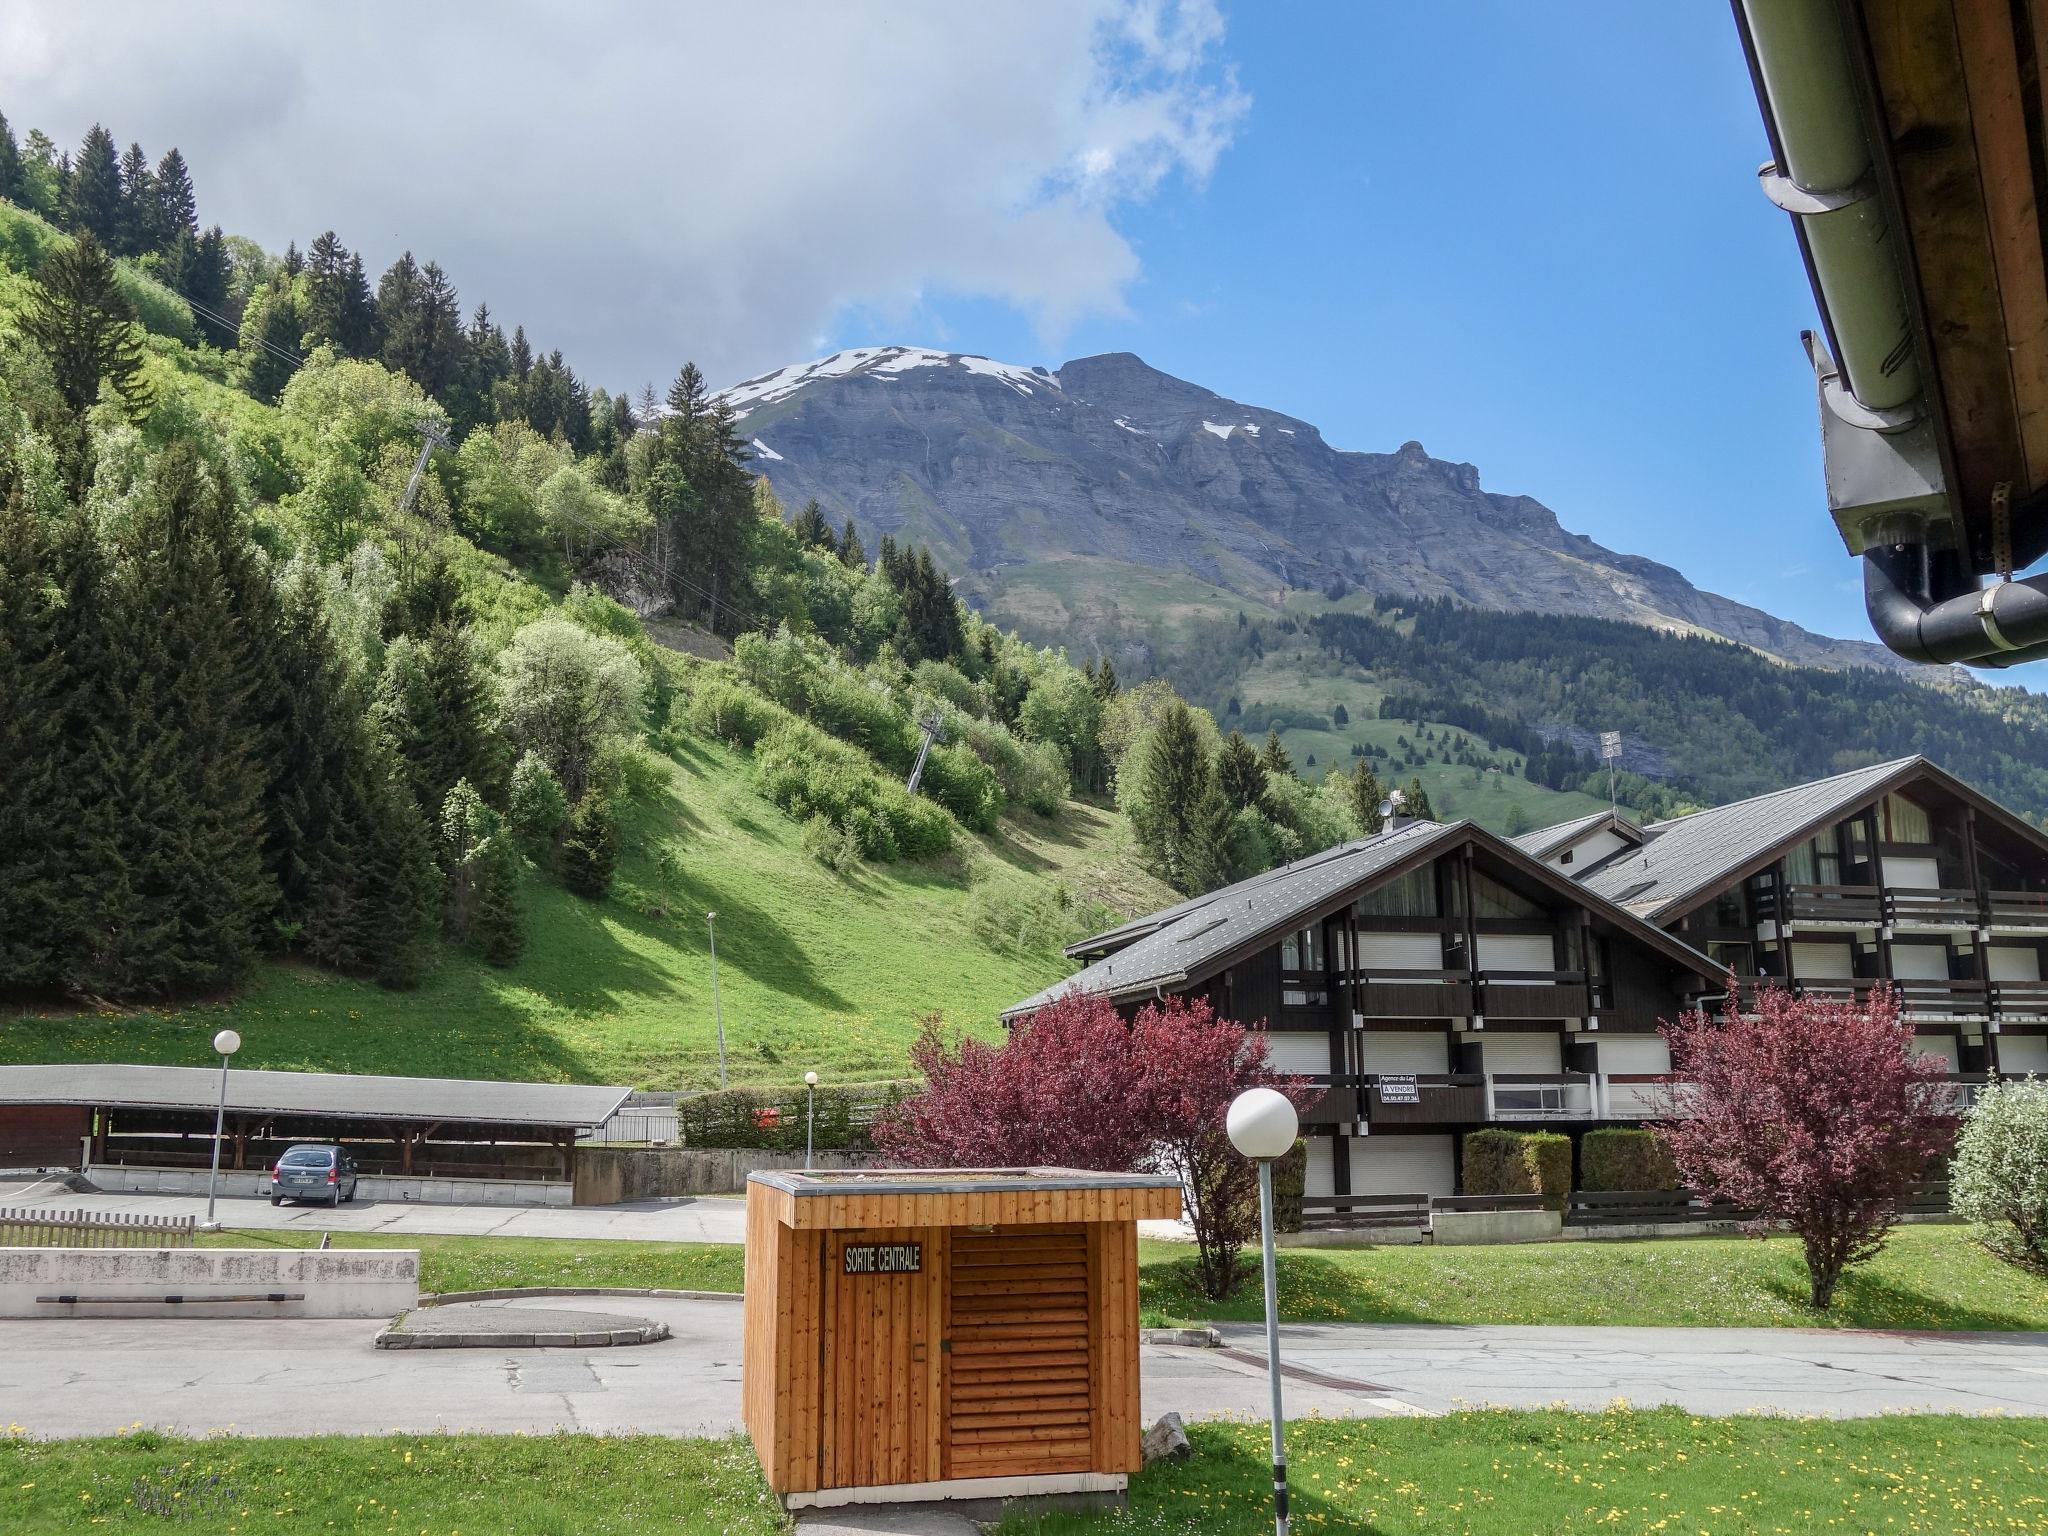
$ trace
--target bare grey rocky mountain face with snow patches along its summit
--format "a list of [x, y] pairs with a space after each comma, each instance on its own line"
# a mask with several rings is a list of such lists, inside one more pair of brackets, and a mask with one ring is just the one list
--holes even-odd
[[1901, 666], [1702, 592], [1679, 571], [1559, 526], [1528, 496], [1419, 442], [1341, 453], [1309, 422], [1243, 406], [1128, 352], [1057, 373], [883, 346], [725, 391], [786, 506], [817, 498], [872, 547], [930, 543], [977, 578], [1040, 559], [1186, 569], [1241, 594], [1321, 588], [1456, 596], [1710, 631], [1788, 662]]

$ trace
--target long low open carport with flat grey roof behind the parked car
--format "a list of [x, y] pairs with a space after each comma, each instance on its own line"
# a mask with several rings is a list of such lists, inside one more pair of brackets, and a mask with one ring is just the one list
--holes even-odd
[[[205, 1167], [219, 1094], [217, 1067], [0, 1067], [0, 1149], [33, 1145], [43, 1163], [88, 1151], [92, 1163]], [[344, 1143], [365, 1174], [569, 1182], [575, 1139], [610, 1120], [627, 1094], [233, 1069], [221, 1165], [266, 1167], [291, 1143], [330, 1141]]]

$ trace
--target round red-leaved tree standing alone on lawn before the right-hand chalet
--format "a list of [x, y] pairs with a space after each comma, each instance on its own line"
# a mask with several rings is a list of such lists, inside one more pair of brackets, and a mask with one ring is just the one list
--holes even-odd
[[1915, 1053], [1890, 987], [1837, 1004], [1767, 985], [1745, 1018], [1731, 977], [1718, 1018], [1692, 1012], [1663, 1036], [1679, 1081], [1657, 1135], [1679, 1178], [1753, 1210], [1753, 1231], [1796, 1233], [1825, 1311], [1954, 1143], [1948, 1065]]

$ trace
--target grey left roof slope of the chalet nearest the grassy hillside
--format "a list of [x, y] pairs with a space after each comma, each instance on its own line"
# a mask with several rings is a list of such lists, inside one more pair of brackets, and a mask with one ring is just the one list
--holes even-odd
[[1180, 907], [1167, 907], [1165, 913], [1153, 913], [1137, 924], [1124, 924], [1128, 930], [1157, 918], [1169, 918], [1106, 961], [1096, 961], [1085, 971], [1012, 1004], [1004, 1010], [1004, 1018], [1042, 1008], [1065, 991], [1124, 999], [1151, 993], [1155, 987], [1182, 985], [1190, 977], [1202, 975], [1210, 961], [1262, 934], [1282, 932], [1292, 918], [1313, 911], [1339, 891], [1409, 858], [1419, 848], [1450, 838], [1460, 825], [1413, 821], [1376, 838], [1339, 844], [1315, 858], [1253, 874], [1249, 881], [1210, 891], [1206, 897], [1180, 903]]

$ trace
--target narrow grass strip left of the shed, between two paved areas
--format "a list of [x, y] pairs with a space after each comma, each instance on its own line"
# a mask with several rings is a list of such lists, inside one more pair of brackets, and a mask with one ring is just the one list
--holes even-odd
[[[319, 1233], [199, 1233], [207, 1247], [319, 1247]], [[657, 1290], [733, 1290], [745, 1276], [739, 1243], [571, 1241], [567, 1237], [440, 1237], [334, 1233], [334, 1247], [420, 1249], [420, 1290], [498, 1290], [502, 1286], [649, 1286]], [[4, 1532], [6, 1526], [0, 1526]]]

